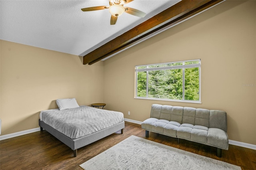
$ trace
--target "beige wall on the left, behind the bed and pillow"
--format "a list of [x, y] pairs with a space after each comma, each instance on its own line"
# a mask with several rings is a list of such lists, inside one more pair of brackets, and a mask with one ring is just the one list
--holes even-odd
[[0, 41], [2, 133], [37, 128], [42, 110], [56, 99], [75, 97], [79, 105], [103, 102], [103, 61]]

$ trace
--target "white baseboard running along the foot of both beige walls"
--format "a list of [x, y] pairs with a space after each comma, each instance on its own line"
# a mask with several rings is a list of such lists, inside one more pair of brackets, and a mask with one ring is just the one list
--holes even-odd
[[[131, 123], [136, 123], [136, 124], [139, 124], [139, 125], [142, 124], [142, 122], [135, 121], [135, 120], [132, 120], [132, 119], [124, 118], [124, 121], [131, 122]], [[16, 132], [16, 133], [2, 135], [2, 136], [0, 136], [0, 140], [4, 140], [4, 139], [8, 139], [8, 138], [13, 138], [13, 137], [16, 137], [16, 136], [21, 136], [21, 135], [24, 135], [24, 134], [38, 132], [38, 131], [40, 131], [40, 127], [29, 129], [29, 130], [24, 130], [24, 131], [20, 131], [20, 132]], [[232, 145], [241, 146], [241, 147], [244, 147], [244, 148], [249, 148], [249, 149], [256, 150], [256, 145], [254, 145], [254, 144], [238, 142], [238, 141], [235, 141], [235, 140], [228, 140], [228, 142], [229, 142], [229, 144], [232, 144]]]

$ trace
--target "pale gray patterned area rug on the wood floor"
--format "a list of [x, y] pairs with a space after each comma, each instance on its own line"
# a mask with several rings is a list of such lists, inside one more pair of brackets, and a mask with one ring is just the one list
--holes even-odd
[[235, 166], [130, 136], [80, 165], [84, 170], [241, 170]]

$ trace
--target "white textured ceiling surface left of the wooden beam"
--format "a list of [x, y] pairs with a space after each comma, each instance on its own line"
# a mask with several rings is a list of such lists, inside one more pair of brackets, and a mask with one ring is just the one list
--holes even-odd
[[107, 9], [81, 10], [108, 0], [0, 0], [0, 39], [83, 56], [178, 2], [134, 0], [125, 6], [147, 15], [124, 13], [111, 26]]

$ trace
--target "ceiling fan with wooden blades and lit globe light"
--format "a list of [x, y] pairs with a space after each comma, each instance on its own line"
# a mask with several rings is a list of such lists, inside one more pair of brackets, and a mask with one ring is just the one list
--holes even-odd
[[124, 7], [125, 4], [128, 4], [134, 0], [109, 0], [109, 6], [94, 6], [89, 8], [82, 8], [82, 11], [95, 11], [95, 10], [104, 10], [109, 9], [111, 13], [110, 25], [116, 24], [117, 17], [122, 15], [124, 12], [138, 16], [144, 17], [146, 13], [136, 10], [134, 8]]

